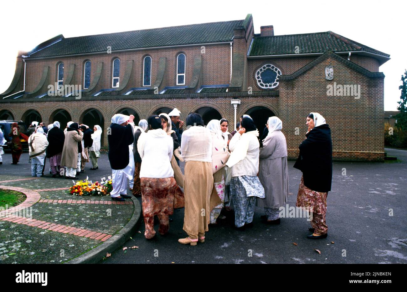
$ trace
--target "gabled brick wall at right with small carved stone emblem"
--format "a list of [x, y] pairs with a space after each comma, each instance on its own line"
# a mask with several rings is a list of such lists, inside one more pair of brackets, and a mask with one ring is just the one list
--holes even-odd
[[[333, 65], [334, 79], [325, 79], [325, 67]], [[327, 85], [360, 85], [360, 99], [328, 96]], [[298, 78], [280, 83], [280, 118], [287, 137], [290, 157], [298, 155], [298, 145], [306, 133], [306, 115], [318, 112], [332, 131], [336, 159], [383, 161], [383, 78], [370, 79], [342, 63], [326, 59]], [[295, 135], [295, 129], [300, 135]]]

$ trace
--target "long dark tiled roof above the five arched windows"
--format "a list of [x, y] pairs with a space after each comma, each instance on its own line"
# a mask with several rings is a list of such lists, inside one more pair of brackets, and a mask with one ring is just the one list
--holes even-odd
[[88, 35], [83, 37], [62, 38], [57, 43], [43, 48], [29, 56], [31, 58], [55, 57], [70, 54], [112, 51], [188, 44], [205, 44], [231, 41], [233, 29], [241, 26], [244, 20], [210, 22], [152, 28], [122, 33]]

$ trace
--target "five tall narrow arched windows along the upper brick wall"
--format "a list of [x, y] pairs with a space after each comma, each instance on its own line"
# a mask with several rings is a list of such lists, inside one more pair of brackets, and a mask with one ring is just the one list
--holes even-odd
[[[185, 54], [177, 55], [177, 85], [185, 85]], [[120, 59], [116, 58], [112, 63], [112, 87], [119, 87], [120, 84]], [[83, 89], [90, 86], [90, 61], [83, 65]], [[58, 86], [63, 85], [63, 63], [58, 64]], [[151, 57], [146, 56], [143, 60], [143, 86], [151, 86]]]

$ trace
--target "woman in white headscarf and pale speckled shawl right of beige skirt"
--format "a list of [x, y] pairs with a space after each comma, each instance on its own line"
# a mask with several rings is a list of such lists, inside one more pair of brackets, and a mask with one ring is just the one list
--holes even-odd
[[[229, 150], [224, 140], [219, 120], [210, 120], [206, 126], [212, 135], [212, 172], [214, 187], [210, 196], [210, 224], [217, 224], [225, 202], [225, 165], [229, 159]], [[222, 216], [224, 219], [225, 216]]]

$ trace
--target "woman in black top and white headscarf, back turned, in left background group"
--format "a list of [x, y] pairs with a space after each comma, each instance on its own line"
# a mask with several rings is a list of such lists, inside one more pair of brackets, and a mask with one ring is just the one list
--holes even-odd
[[47, 155], [50, 158], [52, 177], [56, 177], [61, 168], [61, 158], [63, 144], [65, 142], [65, 134], [61, 129], [59, 129], [59, 122], [56, 121], [52, 125], [53, 127], [48, 131], [47, 136], [49, 143], [47, 148]]

